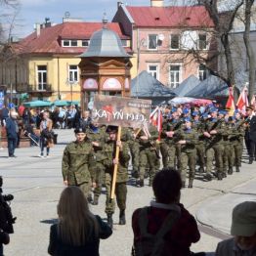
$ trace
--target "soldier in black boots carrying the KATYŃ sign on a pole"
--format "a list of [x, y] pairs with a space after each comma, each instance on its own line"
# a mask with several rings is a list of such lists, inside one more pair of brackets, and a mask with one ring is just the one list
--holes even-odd
[[107, 213], [107, 224], [112, 228], [113, 220], [112, 215], [115, 209], [114, 200], [110, 200], [111, 192], [111, 182], [112, 182], [112, 173], [114, 168], [114, 163], [117, 162], [115, 159], [116, 146], [120, 147], [117, 177], [115, 184], [115, 195], [117, 206], [120, 209], [119, 213], [119, 225], [125, 225], [125, 209], [126, 209], [126, 195], [127, 187], [126, 182], [128, 181], [128, 165], [130, 160], [129, 149], [127, 143], [116, 141], [117, 127], [108, 126], [107, 133], [109, 134], [109, 139], [104, 145], [103, 152], [105, 154], [105, 159], [103, 161], [105, 166], [106, 173], [106, 190], [107, 190], [107, 199], [106, 199], [106, 209]]

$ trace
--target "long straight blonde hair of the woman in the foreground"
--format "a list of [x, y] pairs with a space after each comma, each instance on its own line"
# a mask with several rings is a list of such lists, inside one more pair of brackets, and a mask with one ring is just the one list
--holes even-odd
[[99, 224], [90, 212], [84, 193], [78, 187], [67, 187], [57, 207], [58, 234], [64, 243], [80, 246], [99, 235]]

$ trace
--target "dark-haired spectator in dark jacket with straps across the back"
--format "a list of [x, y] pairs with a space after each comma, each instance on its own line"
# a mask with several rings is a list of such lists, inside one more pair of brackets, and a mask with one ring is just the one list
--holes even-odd
[[[180, 203], [181, 189], [182, 179], [176, 170], [166, 168], [156, 173], [152, 182], [155, 201], [151, 201], [150, 206], [147, 207], [146, 218], [141, 218], [144, 208], [135, 210], [132, 216], [135, 251], [143, 249], [143, 255], [150, 255], [150, 252], [147, 253], [149, 244], [147, 248], [145, 246], [140, 248], [145, 233], [145, 229], [141, 230], [141, 227], [144, 226], [143, 222], [148, 223], [146, 227], [148, 234], [155, 235], [166, 223], [166, 218], [171, 217], [172, 219], [175, 218], [171, 228], [162, 237], [161, 247], [154, 248], [158, 252], [154, 255], [188, 256], [192, 254], [190, 247], [192, 243], [200, 239], [200, 234], [193, 216]], [[155, 243], [157, 244], [157, 242]]]

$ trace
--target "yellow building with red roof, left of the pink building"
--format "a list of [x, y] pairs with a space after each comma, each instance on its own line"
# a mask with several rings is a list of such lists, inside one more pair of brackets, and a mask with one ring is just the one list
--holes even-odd
[[[37, 25], [35, 31], [2, 49], [0, 88], [8, 102], [33, 100], [80, 101], [78, 57], [86, 51], [91, 35], [102, 29], [102, 22], [71, 21]], [[129, 52], [130, 38], [118, 23], [107, 27], [120, 37]]]

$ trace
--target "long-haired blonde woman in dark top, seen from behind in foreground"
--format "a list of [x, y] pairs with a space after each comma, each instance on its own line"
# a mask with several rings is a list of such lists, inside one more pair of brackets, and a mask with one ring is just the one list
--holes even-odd
[[93, 215], [84, 193], [67, 187], [58, 204], [59, 222], [51, 226], [48, 253], [55, 256], [99, 256], [100, 238], [112, 234], [100, 216]]

